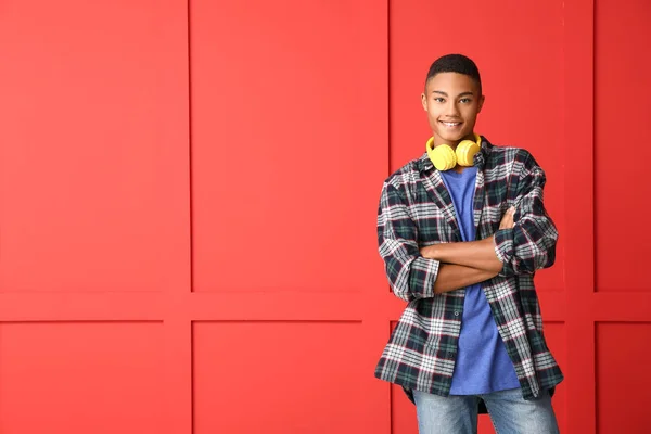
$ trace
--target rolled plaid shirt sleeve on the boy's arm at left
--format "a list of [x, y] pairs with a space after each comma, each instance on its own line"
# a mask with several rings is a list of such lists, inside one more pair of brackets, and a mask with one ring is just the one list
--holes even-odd
[[393, 293], [405, 302], [434, 296], [439, 263], [420, 255], [418, 227], [404, 194], [384, 183], [378, 210], [380, 256]]

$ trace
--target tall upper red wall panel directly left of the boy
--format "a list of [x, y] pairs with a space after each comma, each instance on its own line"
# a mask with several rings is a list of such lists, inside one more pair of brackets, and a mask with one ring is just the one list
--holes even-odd
[[192, 2], [195, 291], [382, 283], [385, 21], [361, 0]]

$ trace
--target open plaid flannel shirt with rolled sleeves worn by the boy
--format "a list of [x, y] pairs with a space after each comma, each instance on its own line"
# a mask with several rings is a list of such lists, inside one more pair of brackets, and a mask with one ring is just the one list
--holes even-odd
[[[556, 258], [557, 229], [542, 203], [546, 178], [525, 150], [492, 145], [482, 137], [473, 202], [477, 240], [495, 234], [501, 272], [482, 283], [497, 330], [515, 367], [523, 397], [563, 380], [547, 347], [534, 286], [536, 270]], [[515, 206], [514, 227], [499, 228]], [[455, 370], [465, 290], [434, 293], [439, 263], [420, 247], [461, 242], [451, 197], [423, 154], [386, 179], [378, 212], [378, 241], [393, 293], [408, 302], [375, 368], [375, 376], [412, 390], [448, 396]]]

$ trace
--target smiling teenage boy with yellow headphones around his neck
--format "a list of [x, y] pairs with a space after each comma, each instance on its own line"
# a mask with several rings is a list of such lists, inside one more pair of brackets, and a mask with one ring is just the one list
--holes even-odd
[[421, 434], [476, 433], [480, 404], [499, 434], [558, 433], [551, 395], [563, 374], [534, 286], [558, 239], [545, 173], [527, 151], [474, 132], [485, 98], [469, 58], [436, 60], [421, 100], [426, 152], [380, 200], [380, 255], [408, 305], [375, 376], [407, 392]]

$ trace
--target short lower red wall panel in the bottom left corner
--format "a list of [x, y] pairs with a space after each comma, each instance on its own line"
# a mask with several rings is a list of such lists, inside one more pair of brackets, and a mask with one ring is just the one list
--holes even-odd
[[0, 432], [163, 432], [162, 326], [0, 324]]

